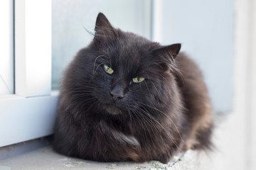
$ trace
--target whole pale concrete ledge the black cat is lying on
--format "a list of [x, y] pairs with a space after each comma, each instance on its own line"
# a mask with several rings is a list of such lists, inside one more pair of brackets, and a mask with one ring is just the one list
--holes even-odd
[[[228, 119], [224, 119], [222, 123], [215, 128], [213, 135], [213, 143], [215, 151], [213, 152], [197, 152], [189, 150], [183, 157], [174, 164], [161, 164], [160, 162], [145, 162], [136, 164], [134, 162], [91, 162], [82, 159], [65, 157], [53, 152], [50, 146], [36, 149], [31, 152], [0, 160], [0, 170], [40, 170], [40, 169], [83, 169], [83, 170], [226, 170], [226, 169], [243, 169], [242, 163], [245, 160], [244, 154], [240, 151], [242, 148], [239, 138], [242, 136], [238, 121], [233, 114]], [[241, 139], [241, 140], [238, 140]], [[0, 151], [1, 152], [1, 151]], [[177, 159], [177, 158], [176, 158]]]

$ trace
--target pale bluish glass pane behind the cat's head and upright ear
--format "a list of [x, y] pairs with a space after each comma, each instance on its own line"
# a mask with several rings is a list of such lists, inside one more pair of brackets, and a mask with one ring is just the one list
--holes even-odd
[[122, 30], [151, 37], [151, 1], [143, 0], [53, 0], [52, 89], [58, 89], [63, 70], [93, 36], [97, 13], [107, 16]]

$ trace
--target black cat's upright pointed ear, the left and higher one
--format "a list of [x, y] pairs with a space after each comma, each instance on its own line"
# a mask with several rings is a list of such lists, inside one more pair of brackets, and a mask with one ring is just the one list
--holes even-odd
[[99, 13], [95, 24], [95, 36], [112, 36], [115, 30], [103, 13]]

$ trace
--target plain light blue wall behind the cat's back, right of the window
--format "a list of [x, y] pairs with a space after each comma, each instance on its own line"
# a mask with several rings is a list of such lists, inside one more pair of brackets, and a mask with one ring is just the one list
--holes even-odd
[[234, 60], [233, 0], [164, 0], [163, 44], [181, 42], [203, 70], [217, 112], [232, 110]]

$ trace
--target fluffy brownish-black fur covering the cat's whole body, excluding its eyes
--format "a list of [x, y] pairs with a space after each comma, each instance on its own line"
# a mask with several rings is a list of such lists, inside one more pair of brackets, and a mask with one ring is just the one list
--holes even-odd
[[[65, 72], [55, 151], [102, 162], [167, 163], [186, 149], [209, 149], [206, 85], [196, 64], [178, 54], [180, 47], [113, 28], [99, 13], [95, 38]], [[134, 83], [134, 77], [145, 80]]]

